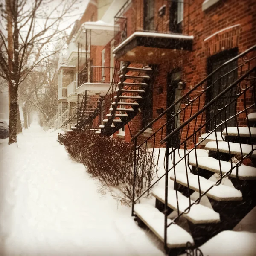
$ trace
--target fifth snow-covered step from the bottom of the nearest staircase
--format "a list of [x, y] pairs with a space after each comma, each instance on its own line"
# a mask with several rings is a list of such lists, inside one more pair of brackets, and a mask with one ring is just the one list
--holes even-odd
[[[237, 156], [241, 156], [241, 154], [243, 156], [245, 156], [252, 151], [252, 147], [253, 147], [253, 149], [256, 148], [256, 145], [251, 146], [251, 145], [247, 145], [247, 144], [241, 144], [241, 148], [242, 148], [242, 153], [241, 153], [239, 143], [230, 142], [229, 145], [230, 145], [231, 154], [234, 154]], [[217, 143], [215, 141], [210, 141], [206, 144], [205, 149], [211, 150], [211, 151], [217, 151]], [[218, 142], [218, 150], [221, 153], [229, 154], [228, 143], [225, 141]], [[256, 158], [256, 150], [253, 151], [251, 157]]]

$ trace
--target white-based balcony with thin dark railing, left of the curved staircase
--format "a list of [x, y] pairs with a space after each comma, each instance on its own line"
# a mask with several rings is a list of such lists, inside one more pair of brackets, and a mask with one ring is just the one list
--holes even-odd
[[78, 73], [78, 87], [76, 92], [83, 93], [85, 90], [90, 90], [94, 93], [105, 93], [108, 91], [113, 76], [115, 67], [90, 66], [84, 67]]

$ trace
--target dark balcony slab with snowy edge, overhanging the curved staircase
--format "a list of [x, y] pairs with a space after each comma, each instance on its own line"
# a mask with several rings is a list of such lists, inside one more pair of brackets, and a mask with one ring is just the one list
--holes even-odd
[[192, 51], [193, 36], [154, 32], [134, 32], [114, 50], [120, 61], [161, 64], [183, 51]]

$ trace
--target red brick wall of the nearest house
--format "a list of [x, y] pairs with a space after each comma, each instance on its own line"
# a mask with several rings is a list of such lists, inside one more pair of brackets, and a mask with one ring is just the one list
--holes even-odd
[[[190, 6], [184, 6], [184, 21], [183, 27], [185, 33], [194, 36], [193, 50], [192, 52], [185, 52], [175, 57], [174, 59], [166, 59], [165, 63], [159, 65], [157, 77], [154, 82], [154, 96], [153, 96], [153, 117], [157, 117], [157, 108], [166, 109], [166, 77], [167, 73], [171, 72], [176, 67], [180, 67], [182, 70], [182, 79], [186, 81], [186, 89], [182, 93], [186, 93], [200, 81], [207, 76], [207, 45], [204, 43], [204, 39], [209, 37], [215, 32], [221, 29], [240, 24], [239, 38], [237, 47], [239, 53], [248, 49], [256, 43], [256, 1], [254, 0], [221, 0], [214, 6], [211, 6], [206, 11], [202, 11], [202, 3], [204, 0], [190, 1]], [[128, 10], [127, 15], [136, 15], [136, 27], [143, 27], [143, 1], [134, 0], [134, 6], [136, 6], [136, 12]], [[169, 11], [166, 0], [155, 1], [155, 12], [166, 4], [166, 15], [158, 17], [154, 20], [155, 28], [158, 31], [163, 31], [166, 27], [169, 27]], [[135, 8], [135, 7], [131, 8]], [[131, 27], [128, 24], [128, 28]], [[189, 30], [187, 30], [189, 28]], [[216, 39], [215, 39], [216, 40]], [[225, 48], [226, 47], [226, 48]], [[228, 49], [228, 45], [224, 45], [225, 49]], [[163, 93], [157, 94], [157, 87], [163, 87]], [[249, 96], [248, 96], [249, 100]], [[204, 101], [201, 101], [201, 106], [204, 105]], [[200, 107], [200, 106], [199, 106]], [[238, 109], [243, 109], [243, 101], [238, 100]], [[191, 116], [189, 111], [186, 112], [185, 120]], [[203, 121], [205, 116], [203, 117]], [[163, 118], [153, 126], [153, 131], [166, 122]], [[242, 124], [243, 120], [239, 120]], [[137, 115], [130, 123], [132, 134], [136, 134], [141, 129], [141, 117]], [[199, 124], [198, 124], [199, 125]], [[126, 140], [129, 140], [128, 129], [126, 128]], [[189, 131], [191, 133], [191, 131]], [[184, 137], [184, 134], [183, 134]], [[191, 146], [192, 144], [190, 144]]]

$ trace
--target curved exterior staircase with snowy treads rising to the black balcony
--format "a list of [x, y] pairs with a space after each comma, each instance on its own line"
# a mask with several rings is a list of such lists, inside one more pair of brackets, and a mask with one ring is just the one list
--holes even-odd
[[111, 136], [126, 125], [140, 111], [140, 106], [145, 100], [148, 87], [154, 76], [151, 67], [130, 67], [124, 63], [116, 86], [109, 113], [99, 125], [97, 134]]

